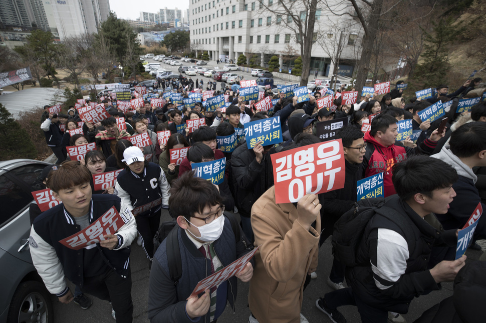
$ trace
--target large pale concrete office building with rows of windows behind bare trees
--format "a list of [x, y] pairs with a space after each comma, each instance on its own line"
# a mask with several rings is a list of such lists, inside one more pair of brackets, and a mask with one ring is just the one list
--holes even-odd
[[[268, 66], [272, 55], [279, 56], [282, 69], [292, 68], [293, 61], [285, 61], [292, 49], [300, 55], [296, 37], [300, 34], [286, 26], [287, 15], [270, 12], [257, 0], [189, 0], [191, 47], [197, 52], [207, 51], [211, 59], [232, 59], [237, 61], [243, 53], [250, 59], [260, 55], [261, 66]], [[278, 9], [278, 1], [263, 0], [268, 6]], [[289, 1], [289, 0], [287, 0]], [[306, 12], [302, 2], [294, 1], [294, 14], [305, 20]], [[273, 7], [272, 7], [273, 9]], [[325, 14], [326, 7], [318, 3], [314, 28], [315, 43], [311, 53], [311, 74], [331, 75], [331, 57], [335, 48], [342, 48], [338, 74], [352, 76], [356, 61], [360, 57], [362, 32], [355, 20], [343, 16]], [[290, 20], [289, 20], [290, 21]], [[334, 48], [334, 50], [333, 50]]]

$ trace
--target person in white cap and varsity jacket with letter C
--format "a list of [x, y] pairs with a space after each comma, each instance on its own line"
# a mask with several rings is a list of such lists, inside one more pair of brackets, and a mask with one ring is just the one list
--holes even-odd
[[152, 263], [153, 237], [159, 227], [161, 208], [169, 208], [170, 185], [159, 165], [145, 160], [136, 146], [123, 151], [126, 167], [117, 177], [114, 194], [118, 195], [137, 221], [142, 247]]

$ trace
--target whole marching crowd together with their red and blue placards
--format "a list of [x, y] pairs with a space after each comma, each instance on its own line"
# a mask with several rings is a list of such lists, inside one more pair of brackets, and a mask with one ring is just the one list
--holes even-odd
[[[117, 322], [132, 321], [134, 240], [152, 322], [216, 322], [237, 279], [250, 284], [250, 323], [307, 322], [303, 293], [326, 261], [334, 290], [316, 306], [333, 322], [346, 322], [343, 305], [363, 322], [405, 322], [443, 281], [453, 294], [416, 322], [482, 321], [485, 262], [464, 255], [486, 237], [486, 88], [471, 76], [405, 100], [403, 81], [358, 97], [319, 80], [203, 90], [180, 75], [47, 105], [57, 161], [39, 179], [62, 203], [31, 204], [34, 264], [61, 302], [109, 300]], [[173, 221], [160, 223], [162, 208]], [[333, 255], [318, 259], [331, 235]]]

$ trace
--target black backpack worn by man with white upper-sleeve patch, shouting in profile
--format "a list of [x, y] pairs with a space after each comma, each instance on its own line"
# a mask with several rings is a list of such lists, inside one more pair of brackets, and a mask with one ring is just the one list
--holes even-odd
[[[356, 259], [356, 253], [363, 239], [366, 225], [377, 213], [396, 223], [407, 241], [411, 240], [410, 243], [414, 243], [414, 238], [407, 238], [414, 236], [410, 223], [403, 216], [397, 214], [397, 211], [393, 208], [384, 206], [387, 200], [388, 198], [383, 197], [361, 199], [354, 204], [354, 208], [344, 213], [336, 221], [331, 242], [334, 257], [343, 265], [354, 267], [360, 264]], [[412, 249], [413, 246], [409, 246], [409, 248]]]

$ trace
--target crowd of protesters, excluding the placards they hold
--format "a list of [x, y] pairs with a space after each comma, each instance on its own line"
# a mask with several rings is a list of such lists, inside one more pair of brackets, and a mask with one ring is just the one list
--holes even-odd
[[[325, 261], [333, 262], [332, 269], [319, 283], [326, 281], [334, 291], [317, 299], [316, 306], [333, 322], [346, 322], [338, 310], [342, 305], [357, 306], [363, 322], [405, 322], [401, 314], [407, 313], [411, 299], [454, 279], [453, 295], [417, 322], [482, 321], [484, 266], [466, 261], [465, 256], [454, 258], [457, 230], [486, 198], [486, 102], [481, 99], [469, 112], [455, 112], [459, 99], [484, 97], [481, 81], [467, 80], [450, 94], [447, 85], [439, 84], [436, 94], [426, 100], [405, 100], [398, 88], [382, 96], [367, 94], [348, 105], [336, 95], [332, 108], [318, 108], [316, 100], [323, 92], [317, 88], [302, 103], [297, 103], [297, 96], [266, 89], [265, 96], [277, 99], [268, 111], [258, 110], [255, 101], [244, 101], [238, 91], [229, 87], [219, 91], [215, 82], [208, 82], [206, 90], [227, 95], [230, 104], [224, 110], [209, 111], [201, 102], [192, 108], [176, 106], [166, 98], [163, 106], [145, 100], [143, 106], [123, 112], [115, 98], [106, 96], [97, 104], [103, 103], [109, 116], [96, 123], [84, 122], [74, 106], [66, 107], [67, 113], [49, 112], [46, 106], [41, 128], [57, 161], [41, 179], [63, 203], [42, 213], [31, 207], [34, 264], [61, 302], [74, 300], [88, 308], [92, 300], [84, 293], [109, 300], [117, 322], [132, 321], [129, 245], [137, 240], [137, 232], [151, 270], [152, 322], [215, 322], [228, 302], [234, 308], [236, 278], [250, 283], [250, 323], [307, 322], [301, 314], [304, 290]], [[162, 91], [150, 88], [148, 93], [162, 96], [172, 91], [188, 97], [203, 82], [194, 84], [181, 77], [158, 80], [156, 87]], [[445, 127], [439, 129], [442, 118], [422, 122], [418, 112], [450, 100]], [[86, 106], [89, 103], [86, 100]], [[218, 148], [217, 136], [273, 116], [280, 116], [281, 144], [258, 142], [251, 149], [245, 132], [238, 132], [233, 151]], [[124, 119], [126, 128], [118, 126], [117, 118]], [[200, 118], [205, 125], [195, 131], [178, 130], [187, 120]], [[336, 136], [342, 140], [346, 165], [344, 187], [305, 194], [295, 203], [276, 203], [270, 155], [321, 142], [316, 124], [337, 118], [348, 121]], [[396, 140], [397, 121], [404, 119], [412, 120], [414, 130], [422, 130], [418, 139]], [[370, 124], [367, 131], [362, 130], [365, 123]], [[81, 133], [68, 132], [76, 128]], [[171, 134], [160, 144], [157, 132], [167, 130]], [[140, 148], [129, 140], [145, 133], [152, 144]], [[95, 150], [80, 161], [71, 160], [67, 147], [91, 142], [96, 143]], [[169, 150], [182, 147], [189, 147], [187, 156], [178, 164], [171, 162]], [[223, 157], [226, 169], [218, 185], [191, 171], [194, 162]], [[116, 184], [95, 191], [92, 175], [116, 169], [123, 169]], [[386, 212], [374, 215], [364, 229], [356, 251], [358, 265], [346, 266], [331, 254], [318, 259], [319, 247], [333, 235], [334, 224], [355, 207], [357, 181], [381, 172]], [[160, 203], [132, 213], [158, 199]], [[57, 242], [86, 228], [111, 206], [127, 219], [116, 234], [81, 250]], [[162, 208], [169, 210], [177, 225], [173, 236], [154, 249]], [[239, 213], [239, 223], [234, 213]], [[472, 248], [480, 249], [475, 240], [486, 237], [485, 223], [481, 217]], [[174, 243], [178, 256], [171, 258]], [[253, 245], [259, 250], [235, 277], [191, 295], [198, 281], [252, 251]], [[177, 261], [181, 272], [174, 278], [172, 263]], [[74, 294], [66, 278], [76, 285]]]

